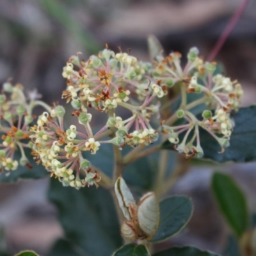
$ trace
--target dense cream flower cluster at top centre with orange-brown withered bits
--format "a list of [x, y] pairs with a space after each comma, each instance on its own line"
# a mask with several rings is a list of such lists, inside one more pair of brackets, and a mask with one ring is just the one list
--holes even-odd
[[[108, 113], [108, 122], [100, 132], [115, 129], [115, 138], [109, 142], [119, 148], [149, 145], [158, 138], [158, 132], [150, 125], [152, 115], [159, 113], [159, 104], [153, 100], [167, 93], [166, 86], [150, 79], [151, 69], [150, 63], [138, 61], [124, 52], [115, 54], [109, 49], [91, 56], [88, 61], [72, 56], [63, 68], [67, 90], [62, 97], [67, 102], [71, 100], [79, 119], [81, 115], [86, 116], [88, 122], [83, 122], [84, 125], [92, 118], [88, 113], [90, 108]], [[116, 116], [116, 108], [126, 109], [131, 115], [123, 120], [122, 116]]]

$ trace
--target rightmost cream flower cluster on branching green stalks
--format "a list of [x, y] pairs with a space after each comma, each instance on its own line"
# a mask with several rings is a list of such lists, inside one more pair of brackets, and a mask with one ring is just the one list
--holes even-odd
[[[232, 111], [238, 111], [243, 90], [237, 81], [216, 73], [216, 63], [204, 62], [198, 56], [198, 49], [193, 47], [188, 53], [185, 67], [180, 66], [181, 55], [173, 52], [166, 58], [157, 58], [153, 76], [158, 84], [180, 86], [182, 103], [175, 117], [183, 118], [182, 125], [170, 127], [164, 123], [161, 131], [168, 134], [168, 139], [175, 148], [187, 157], [202, 157], [204, 150], [200, 145], [199, 127], [215, 138], [224, 150], [228, 147], [234, 122], [230, 119]], [[180, 82], [180, 83], [179, 83]], [[187, 93], [200, 97], [187, 103]], [[197, 95], [197, 98], [198, 98]], [[201, 120], [189, 111], [200, 104], [205, 104]], [[175, 118], [174, 118], [175, 119]], [[185, 132], [180, 142], [179, 134]], [[196, 143], [196, 145], [195, 145]]]

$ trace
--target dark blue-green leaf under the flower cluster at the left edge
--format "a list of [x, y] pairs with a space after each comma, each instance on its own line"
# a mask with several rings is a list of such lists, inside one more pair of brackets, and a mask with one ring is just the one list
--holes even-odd
[[[49, 176], [49, 172], [45, 170], [45, 167], [42, 164], [36, 164], [31, 156], [31, 150], [29, 148], [25, 149], [25, 154], [28, 157], [29, 164], [31, 164], [32, 168], [28, 168], [27, 166], [20, 166], [15, 171], [9, 171], [8, 175], [4, 173], [0, 173], [0, 182], [17, 182], [20, 179], [42, 179], [44, 177]], [[14, 159], [19, 161], [20, 152], [15, 152]]]

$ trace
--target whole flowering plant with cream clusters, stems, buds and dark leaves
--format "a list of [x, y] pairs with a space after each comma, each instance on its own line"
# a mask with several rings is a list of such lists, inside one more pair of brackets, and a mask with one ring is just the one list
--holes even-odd
[[[67, 203], [60, 195], [56, 195], [58, 191], [63, 191], [61, 196], [73, 198], [74, 202], [77, 200], [76, 196], [80, 195], [82, 201], [83, 197], [86, 200], [89, 196], [97, 204], [101, 204], [97, 200], [105, 194], [108, 204], [105, 206], [109, 209], [102, 211], [108, 210], [110, 215], [115, 216], [112, 198], [108, 197], [108, 193], [113, 196], [118, 223], [122, 226], [123, 242], [126, 244], [122, 248], [118, 249], [122, 244], [119, 228], [115, 228], [113, 234], [109, 235], [113, 243], [102, 241], [103, 252], [102, 248], [93, 246], [95, 241], [88, 239], [86, 230], [83, 230], [80, 237], [73, 239], [69, 234], [70, 224], [62, 223], [67, 238], [70, 239], [68, 243], [74, 242], [86, 255], [110, 255], [116, 249], [118, 250], [113, 254], [116, 256], [129, 253], [129, 250], [138, 254], [124, 255], [150, 255], [149, 253], [154, 252], [154, 243], [180, 232], [191, 218], [191, 200], [185, 196], [161, 199], [172, 186], [173, 179], [188, 170], [184, 159], [207, 158], [219, 162], [234, 160], [237, 145], [234, 143], [235, 138], [232, 141], [232, 134], [244, 129], [245, 124], [241, 127], [239, 123], [244, 113], [255, 111], [254, 108], [239, 111], [243, 96], [241, 84], [224, 76], [215, 62], [204, 61], [196, 47], [189, 50], [186, 64], [182, 65], [179, 52], [171, 52], [165, 56], [161, 47], [157, 47], [159, 43], [153, 36], [150, 36], [149, 44], [151, 56], [155, 52], [150, 62], [140, 61], [121, 50], [115, 53], [108, 49], [108, 45], [86, 61], [79, 58], [80, 53], [70, 57], [62, 73], [67, 79], [67, 88], [63, 91], [62, 98], [73, 108], [72, 116], [75, 119], [71, 125], [67, 125], [64, 106], [48, 106], [40, 100], [38, 93], [26, 95], [20, 84], [13, 85], [11, 81], [7, 81], [0, 95], [0, 168], [2, 175], [6, 177], [3, 179], [12, 177], [14, 172], [18, 172], [18, 178], [24, 173], [29, 176], [32, 172], [39, 172], [27, 153], [31, 150], [36, 164], [44, 166], [43, 169], [46, 170], [42, 173], [49, 172], [51, 177], [56, 178], [51, 182], [49, 198], [59, 205], [60, 212]], [[38, 117], [33, 113], [36, 106], [44, 108], [44, 112]], [[97, 122], [97, 127], [100, 126], [98, 129], [95, 129], [93, 120], [96, 116], [97, 119], [100, 118]], [[237, 130], [236, 121], [240, 124]], [[205, 141], [213, 141], [212, 147], [205, 145]], [[100, 164], [104, 162], [100, 151], [104, 145], [111, 146], [108, 144], [113, 146], [113, 172], [110, 172], [108, 165]], [[166, 149], [184, 155], [177, 157], [179, 163], [171, 174], [167, 172], [169, 155]], [[125, 150], [129, 151], [122, 153]], [[17, 152], [20, 154], [19, 159]], [[125, 169], [157, 152], [160, 152], [160, 157], [154, 173], [150, 173], [152, 166], [143, 166], [140, 180], [136, 180], [131, 175], [131, 170]], [[172, 154], [177, 156], [176, 153]], [[97, 160], [93, 155], [98, 156]], [[248, 158], [248, 150], [239, 157]], [[154, 157], [152, 161], [156, 163]], [[25, 166], [20, 171], [22, 175], [19, 175], [19, 166]], [[32, 167], [34, 168], [30, 170]], [[127, 170], [126, 178], [124, 170]], [[36, 174], [32, 174], [32, 177], [33, 175], [36, 177]], [[140, 192], [142, 197], [136, 204], [125, 179], [133, 188], [136, 187], [136, 182], [150, 180], [147, 188], [140, 188], [143, 192], [150, 192], [143, 196]], [[218, 180], [214, 182], [218, 183]], [[92, 192], [84, 188], [92, 186], [100, 188], [90, 188]], [[95, 209], [95, 205], [90, 205], [89, 202], [86, 204]], [[67, 214], [68, 211], [64, 210], [60, 214]], [[82, 211], [86, 214], [88, 209]], [[76, 212], [70, 214], [70, 219], [77, 218]], [[113, 216], [108, 217], [109, 223], [104, 223], [102, 214], [96, 214], [97, 221], [103, 227], [101, 231], [99, 227], [98, 233], [105, 234], [108, 228], [112, 228], [111, 225], [119, 225], [113, 221]], [[245, 225], [239, 236], [244, 234], [246, 228]], [[84, 242], [84, 239], [88, 240]], [[133, 244], [129, 244], [131, 242]], [[72, 250], [70, 248], [69, 255], [74, 255]], [[192, 247], [171, 248], [168, 252], [154, 255], [171, 255], [175, 252], [180, 252], [180, 255], [215, 255]], [[84, 255], [83, 253], [77, 255]]]

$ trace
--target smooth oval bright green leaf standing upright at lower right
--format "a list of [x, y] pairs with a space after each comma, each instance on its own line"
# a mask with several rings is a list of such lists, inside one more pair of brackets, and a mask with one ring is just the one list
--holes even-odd
[[249, 225], [246, 197], [232, 177], [216, 172], [212, 177], [212, 191], [225, 220], [236, 236], [241, 237]]

